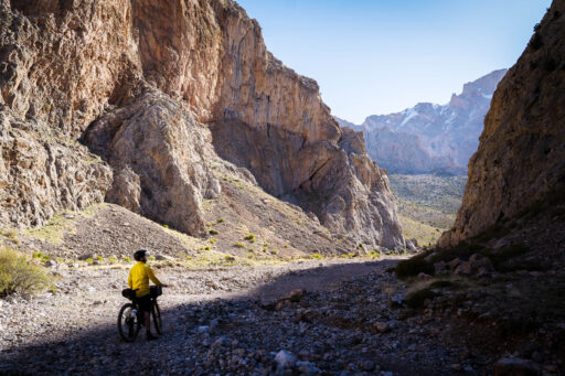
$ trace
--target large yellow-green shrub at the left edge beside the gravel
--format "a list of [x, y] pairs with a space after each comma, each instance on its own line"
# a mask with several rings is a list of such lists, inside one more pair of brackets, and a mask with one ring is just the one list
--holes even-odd
[[52, 282], [53, 276], [42, 266], [28, 261], [24, 255], [11, 248], [0, 249], [0, 297], [39, 292]]

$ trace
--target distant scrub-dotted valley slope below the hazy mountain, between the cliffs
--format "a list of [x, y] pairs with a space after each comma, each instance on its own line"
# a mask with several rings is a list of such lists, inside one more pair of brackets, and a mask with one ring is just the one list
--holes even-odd
[[466, 176], [391, 174], [404, 236], [434, 245], [451, 227], [461, 205]]

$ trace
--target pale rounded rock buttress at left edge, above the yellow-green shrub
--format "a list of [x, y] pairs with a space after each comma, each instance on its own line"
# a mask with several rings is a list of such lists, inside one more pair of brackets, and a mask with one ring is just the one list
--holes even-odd
[[0, 223], [43, 225], [62, 210], [82, 210], [104, 201], [111, 170], [53, 129], [18, 119], [0, 105]]

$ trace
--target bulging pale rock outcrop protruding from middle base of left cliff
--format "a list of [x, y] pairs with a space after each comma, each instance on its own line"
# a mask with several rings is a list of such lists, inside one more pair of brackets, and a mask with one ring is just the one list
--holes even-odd
[[158, 90], [96, 120], [85, 135], [116, 173], [109, 202], [204, 235], [203, 198], [220, 194], [210, 131]]

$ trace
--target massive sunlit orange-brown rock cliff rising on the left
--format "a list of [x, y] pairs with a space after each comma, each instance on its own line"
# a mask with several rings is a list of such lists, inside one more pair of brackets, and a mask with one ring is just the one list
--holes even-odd
[[2, 0], [0, 22], [2, 224], [107, 200], [202, 235], [220, 154], [333, 234], [405, 246], [360, 136], [235, 2]]

